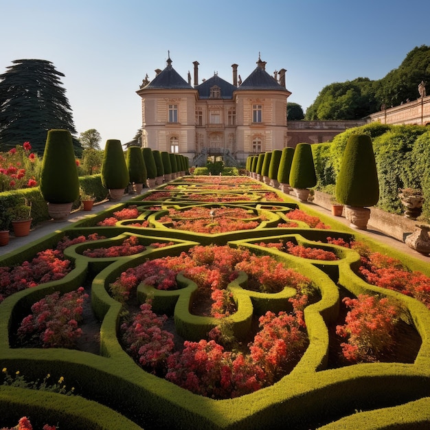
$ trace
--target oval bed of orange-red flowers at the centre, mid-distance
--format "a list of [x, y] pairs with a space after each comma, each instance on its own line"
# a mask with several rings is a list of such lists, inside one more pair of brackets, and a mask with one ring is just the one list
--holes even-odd
[[193, 207], [188, 210], [170, 209], [169, 214], [162, 216], [160, 223], [172, 223], [174, 229], [195, 231], [196, 233], [226, 233], [228, 231], [256, 228], [264, 216], [255, 219], [253, 211], [240, 207]]

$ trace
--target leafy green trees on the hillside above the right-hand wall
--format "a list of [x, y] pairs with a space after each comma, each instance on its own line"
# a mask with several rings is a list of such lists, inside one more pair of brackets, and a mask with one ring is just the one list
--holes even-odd
[[[418, 84], [430, 83], [430, 47], [415, 47], [381, 80], [357, 78], [324, 87], [306, 110], [306, 120], [357, 120], [419, 97]], [[289, 118], [288, 118], [289, 119]]]

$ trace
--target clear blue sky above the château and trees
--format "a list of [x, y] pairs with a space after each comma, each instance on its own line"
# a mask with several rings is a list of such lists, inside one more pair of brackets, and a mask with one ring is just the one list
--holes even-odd
[[288, 101], [306, 111], [326, 85], [381, 79], [430, 45], [429, 15], [425, 0], [0, 0], [0, 73], [12, 60], [51, 61], [78, 133], [96, 128], [104, 147], [133, 139], [135, 91], [168, 51], [185, 80], [197, 60], [200, 81], [228, 82], [232, 64], [245, 80], [260, 52], [269, 73], [287, 69]]

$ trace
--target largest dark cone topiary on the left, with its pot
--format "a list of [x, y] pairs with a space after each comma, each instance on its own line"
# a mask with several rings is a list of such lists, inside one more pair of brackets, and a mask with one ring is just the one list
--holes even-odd
[[79, 197], [79, 178], [71, 134], [67, 130], [49, 130], [43, 153], [41, 194], [54, 220], [69, 216]]

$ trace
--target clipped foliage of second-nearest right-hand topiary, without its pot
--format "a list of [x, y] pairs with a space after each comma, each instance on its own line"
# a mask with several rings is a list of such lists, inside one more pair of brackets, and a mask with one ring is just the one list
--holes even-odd
[[317, 185], [317, 175], [313, 163], [310, 144], [298, 144], [294, 150], [289, 183], [291, 187], [304, 190]]

